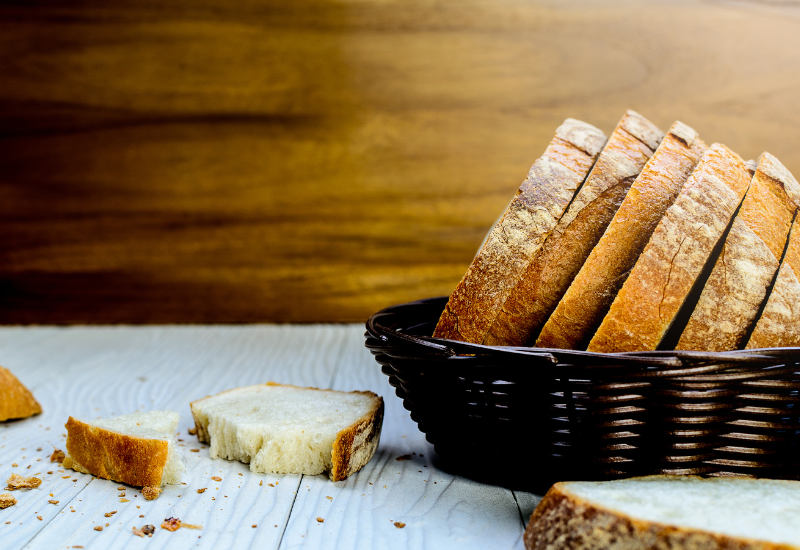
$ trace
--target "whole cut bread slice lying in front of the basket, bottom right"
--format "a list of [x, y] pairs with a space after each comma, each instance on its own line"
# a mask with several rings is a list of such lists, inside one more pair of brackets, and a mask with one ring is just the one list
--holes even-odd
[[800, 548], [800, 482], [653, 476], [556, 483], [525, 547], [550, 550]]

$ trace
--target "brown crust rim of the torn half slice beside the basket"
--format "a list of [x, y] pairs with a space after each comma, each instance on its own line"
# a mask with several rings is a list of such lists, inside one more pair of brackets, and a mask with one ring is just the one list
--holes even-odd
[[[333, 466], [329, 472], [332, 481], [341, 481], [360, 470], [375, 454], [375, 450], [380, 443], [381, 428], [383, 426], [384, 403], [383, 398], [371, 391], [352, 391], [339, 392], [337, 390], [324, 390], [320, 388], [295, 386], [292, 384], [279, 384], [277, 382], [266, 382], [261, 386], [290, 387], [300, 390], [334, 392], [334, 393], [357, 393], [372, 398], [373, 407], [364, 416], [356, 420], [353, 424], [340, 430], [336, 434], [336, 439], [331, 449]], [[258, 385], [257, 385], [258, 386]], [[246, 386], [253, 387], [253, 386]], [[197, 439], [202, 443], [211, 443], [206, 426], [200, 421], [195, 411], [195, 406], [209, 398], [218, 397], [227, 393], [235, 393], [244, 388], [232, 388], [215, 395], [195, 399], [189, 403], [192, 417], [197, 431]]]

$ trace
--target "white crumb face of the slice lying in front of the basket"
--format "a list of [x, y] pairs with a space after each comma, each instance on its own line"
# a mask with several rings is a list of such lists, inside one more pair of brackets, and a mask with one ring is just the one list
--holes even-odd
[[564, 484], [573, 495], [630, 516], [733, 537], [800, 544], [800, 482], [653, 476]]

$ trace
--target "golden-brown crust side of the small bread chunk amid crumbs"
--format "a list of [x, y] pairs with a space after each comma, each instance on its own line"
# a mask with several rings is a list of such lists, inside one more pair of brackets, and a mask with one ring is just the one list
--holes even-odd
[[122, 434], [72, 416], [65, 427], [72, 469], [135, 487], [162, 485], [169, 458], [166, 439]]

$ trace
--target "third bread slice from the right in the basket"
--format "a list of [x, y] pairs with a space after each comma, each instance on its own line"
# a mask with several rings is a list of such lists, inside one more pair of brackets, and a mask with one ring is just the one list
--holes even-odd
[[657, 349], [730, 225], [750, 180], [739, 155], [719, 143], [706, 149], [611, 304], [589, 351]]

